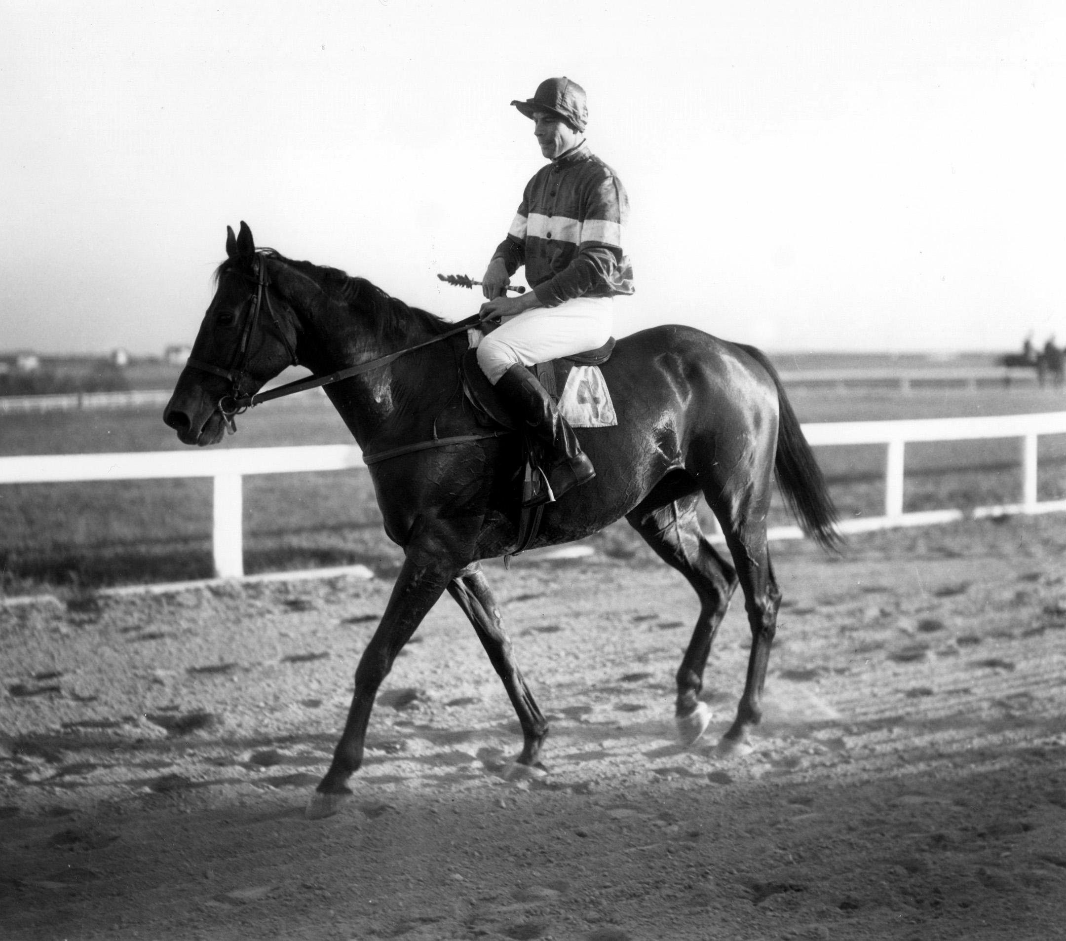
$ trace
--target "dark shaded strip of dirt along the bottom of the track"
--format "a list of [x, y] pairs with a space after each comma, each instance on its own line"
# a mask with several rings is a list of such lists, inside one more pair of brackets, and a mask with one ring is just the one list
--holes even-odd
[[0, 926], [27, 939], [297, 924], [300, 937], [650, 939], [664, 919], [672, 938], [706, 937], [712, 919], [738, 939], [1051, 937], [1066, 897], [1066, 747], [984, 758], [1000, 766], [850, 784], [715, 772], [583, 792], [365, 785], [314, 823], [304, 794], [219, 806], [208, 782], [175, 782], [140, 809], [5, 813]]

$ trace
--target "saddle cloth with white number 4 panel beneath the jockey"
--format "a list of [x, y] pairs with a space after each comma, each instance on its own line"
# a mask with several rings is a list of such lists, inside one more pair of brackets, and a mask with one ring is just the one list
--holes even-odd
[[[494, 421], [507, 428], [514, 423], [499, 404], [496, 390], [478, 366], [478, 344], [484, 334], [477, 328], [467, 330], [470, 348], [463, 357], [464, 388], [468, 398]], [[599, 350], [579, 353], [574, 357], [538, 362], [533, 367], [540, 385], [559, 404], [559, 411], [574, 428], [609, 428], [618, 424], [611, 392], [598, 363], [607, 362], [614, 350], [612, 337]], [[562, 393], [559, 389], [562, 388]]]

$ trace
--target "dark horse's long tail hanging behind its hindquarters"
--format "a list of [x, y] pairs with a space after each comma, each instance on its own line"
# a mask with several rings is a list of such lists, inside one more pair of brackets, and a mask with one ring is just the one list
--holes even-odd
[[833, 505], [822, 469], [818, 466], [814, 452], [807, 443], [800, 420], [785, 394], [781, 377], [761, 350], [743, 343], [737, 345], [770, 373], [777, 387], [780, 421], [774, 469], [777, 471], [777, 485], [785, 494], [785, 502], [808, 536], [826, 551], [839, 552], [841, 536], [837, 529], [837, 507]]

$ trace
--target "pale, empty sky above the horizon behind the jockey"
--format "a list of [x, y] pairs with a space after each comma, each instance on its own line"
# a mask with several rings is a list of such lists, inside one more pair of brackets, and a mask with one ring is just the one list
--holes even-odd
[[1066, 4], [0, 0], [0, 350], [194, 338], [259, 245], [450, 319], [565, 75], [630, 198], [616, 335], [1066, 340]]

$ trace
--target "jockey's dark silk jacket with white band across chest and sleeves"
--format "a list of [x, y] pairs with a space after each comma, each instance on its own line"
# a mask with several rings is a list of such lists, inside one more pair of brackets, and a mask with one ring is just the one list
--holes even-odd
[[545, 307], [632, 294], [633, 270], [621, 247], [628, 215], [621, 180], [581, 144], [527, 183], [492, 257], [503, 259], [510, 275], [524, 264], [526, 280]]

